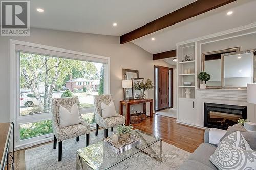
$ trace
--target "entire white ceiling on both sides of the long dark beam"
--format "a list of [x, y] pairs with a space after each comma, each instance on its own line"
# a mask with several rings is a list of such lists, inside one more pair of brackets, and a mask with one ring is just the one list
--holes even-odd
[[[32, 0], [31, 27], [120, 36], [194, 1]], [[237, 0], [132, 42], [152, 54], [173, 50], [177, 42], [256, 22], [255, 7], [256, 0]]]

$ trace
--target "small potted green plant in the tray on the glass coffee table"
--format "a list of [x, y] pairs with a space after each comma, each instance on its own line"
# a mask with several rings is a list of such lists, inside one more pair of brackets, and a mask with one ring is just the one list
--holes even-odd
[[129, 143], [130, 142], [130, 134], [132, 132], [132, 125], [128, 125], [128, 126], [117, 126], [117, 134], [119, 135], [119, 143], [120, 144], [125, 144], [125, 143]]

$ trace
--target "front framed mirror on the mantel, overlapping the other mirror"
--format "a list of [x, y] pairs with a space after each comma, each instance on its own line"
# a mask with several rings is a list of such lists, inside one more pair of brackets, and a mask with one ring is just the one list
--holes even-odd
[[255, 82], [255, 51], [222, 54], [223, 88], [246, 88], [247, 83]]

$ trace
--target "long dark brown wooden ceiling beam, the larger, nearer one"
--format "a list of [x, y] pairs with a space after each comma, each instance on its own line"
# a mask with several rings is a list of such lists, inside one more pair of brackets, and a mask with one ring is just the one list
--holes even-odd
[[143, 37], [145, 35], [154, 33], [158, 30], [164, 29], [166, 27], [175, 25], [181, 21], [189, 19], [191, 17], [200, 15], [212, 9], [221, 7], [223, 5], [229, 4], [236, 0], [197, 0], [185, 7], [182, 7], [172, 13], [169, 13], [161, 18], [158, 18], [146, 25], [137, 28], [129, 33], [126, 33], [120, 37], [120, 44], [130, 42], [137, 38]]

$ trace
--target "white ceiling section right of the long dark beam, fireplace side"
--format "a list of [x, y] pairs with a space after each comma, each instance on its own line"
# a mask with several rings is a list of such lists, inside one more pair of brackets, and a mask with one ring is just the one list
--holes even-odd
[[255, 0], [238, 0], [132, 42], [152, 54], [173, 50], [178, 42], [256, 22], [255, 7]]

